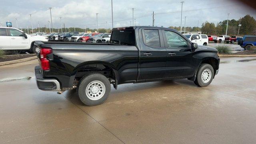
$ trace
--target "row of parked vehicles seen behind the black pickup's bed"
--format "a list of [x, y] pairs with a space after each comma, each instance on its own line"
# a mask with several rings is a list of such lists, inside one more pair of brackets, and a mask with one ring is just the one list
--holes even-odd
[[[38, 34], [36, 34], [38, 35]], [[62, 42], [94, 42], [106, 43], [110, 40], [110, 33], [79, 33], [79, 32], [64, 32], [64, 33], [48, 33], [42, 34], [47, 36], [49, 41], [62, 41]]]

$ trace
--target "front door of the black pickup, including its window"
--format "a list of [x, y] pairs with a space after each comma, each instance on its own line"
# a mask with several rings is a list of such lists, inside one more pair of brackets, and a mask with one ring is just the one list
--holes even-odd
[[190, 43], [180, 34], [162, 30], [166, 46], [166, 78], [193, 76], [194, 68]]

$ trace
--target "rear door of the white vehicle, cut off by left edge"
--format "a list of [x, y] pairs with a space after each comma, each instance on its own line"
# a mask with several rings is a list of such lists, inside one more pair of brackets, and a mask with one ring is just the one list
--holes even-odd
[[0, 48], [3, 50], [10, 49], [10, 37], [7, 36], [8, 32], [6, 28], [0, 28]]

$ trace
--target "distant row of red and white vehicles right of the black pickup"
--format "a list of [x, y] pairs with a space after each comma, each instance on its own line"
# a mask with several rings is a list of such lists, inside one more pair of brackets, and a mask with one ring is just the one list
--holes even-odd
[[208, 35], [208, 40], [209, 41], [214, 41], [214, 42], [226, 42], [226, 43], [231, 43], [233, 44], [234, 42], [238, 42], [239, 40], [242, 40], [242, 36], [225, 36], [225, 35], [220, 35], [220, 36], [212, 36]]

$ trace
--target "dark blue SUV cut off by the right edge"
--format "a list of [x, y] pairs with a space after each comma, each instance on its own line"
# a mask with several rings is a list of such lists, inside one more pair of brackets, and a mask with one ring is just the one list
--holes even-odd
[[238, 41], [238, 44], [244, 50], [249, 50], [250, 47], [256, 46], [256, 36], [244, 36], [242, 40]]

